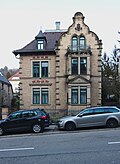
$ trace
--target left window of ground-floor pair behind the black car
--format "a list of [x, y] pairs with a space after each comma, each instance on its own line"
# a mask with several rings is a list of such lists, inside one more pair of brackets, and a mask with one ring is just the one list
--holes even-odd
[[33, 104], [40, 104], [40, 89], [33, 89]]

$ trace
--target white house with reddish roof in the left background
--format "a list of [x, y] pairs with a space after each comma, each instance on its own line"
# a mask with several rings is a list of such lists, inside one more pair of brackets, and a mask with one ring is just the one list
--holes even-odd
[[19, 93], [19, 83], [20, 83], [19, 71], [14, 73], [8, 80], [12, 85], [14, 95], [18, 94]]

